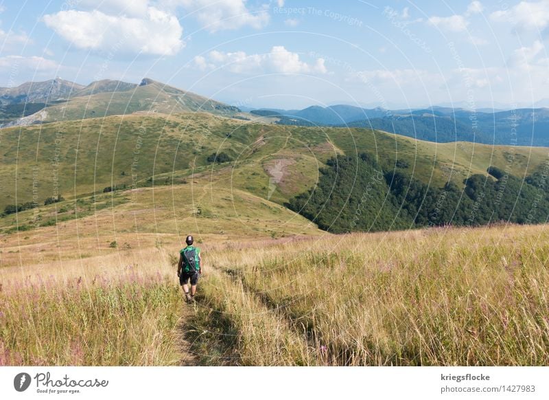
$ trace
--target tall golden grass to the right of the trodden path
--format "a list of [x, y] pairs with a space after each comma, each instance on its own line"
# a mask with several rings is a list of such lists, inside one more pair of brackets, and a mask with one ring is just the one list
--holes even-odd
[[547, 365], [547, 239], [545, 227], [352, 234], [218, 262], [305, 326], [309, 364]]

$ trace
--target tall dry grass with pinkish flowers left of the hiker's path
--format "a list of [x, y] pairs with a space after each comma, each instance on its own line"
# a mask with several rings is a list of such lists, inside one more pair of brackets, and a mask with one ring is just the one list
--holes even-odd
[[173, 276], [152, 267], [113, 266], [110, 274], [38, 282], [27, 277], [3, 287], [0, 365], [184, 362], [180, 289]]

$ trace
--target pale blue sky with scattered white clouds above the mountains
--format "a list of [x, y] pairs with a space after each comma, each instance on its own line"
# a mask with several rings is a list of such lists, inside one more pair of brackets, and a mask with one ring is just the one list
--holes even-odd
[[0, 0], [0, 86], [152, 78], [237, 107], [549, 106], [549, 0]]

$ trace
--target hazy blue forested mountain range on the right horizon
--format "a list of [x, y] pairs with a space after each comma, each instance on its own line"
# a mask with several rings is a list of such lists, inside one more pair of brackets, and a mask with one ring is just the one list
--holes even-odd
[[250, 113], [277, 118], [278, 124], [379, 129], [439, 143], [464, 141], [549, 146], [549, 109], [545, 108], [508, 111], [470, 111], [450, 107], [386, 110], [334, 105], [302, 110], [259, 109]]

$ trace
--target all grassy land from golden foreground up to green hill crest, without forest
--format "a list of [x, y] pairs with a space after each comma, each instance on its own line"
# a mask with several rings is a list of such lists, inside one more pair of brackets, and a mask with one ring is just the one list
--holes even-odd
[[[443, 186], [489, 165], [530, 175], [546, 149], [206, 113], [0, 135], [3, 205], [39, 203], [0, 218], [1, 365], [548, 363], [546, 225], [336, 236], [281, 205], [336, 155]], [[65, 200], [43, 205], [55, 182]], [[189, 233], [194, 307], [174, 267]]]

